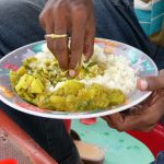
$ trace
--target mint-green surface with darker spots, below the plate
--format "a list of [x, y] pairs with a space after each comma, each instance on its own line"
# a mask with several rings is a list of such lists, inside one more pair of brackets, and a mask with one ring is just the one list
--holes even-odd
[[73, 120], [72, 129], [83, 141], [105, 150], [105, 164], [150, 164], [154, 161], [153, 154], [142, 142], [126, 132], [109, 128], [103, 119], [97, 119], [91, 126]]

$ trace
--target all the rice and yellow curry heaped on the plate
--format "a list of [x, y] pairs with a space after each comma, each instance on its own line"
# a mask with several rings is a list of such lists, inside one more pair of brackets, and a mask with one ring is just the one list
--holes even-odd
[[59, 112], [105, 109], [126, 103], [136, 90], [137, 72], [126, 57], [94, 48], [90, 61], [82, 61], [71, 78], [44, 46], [43, 52], [25, 59], [17, 71], [10, 71], [12, 87], [28, 103]]

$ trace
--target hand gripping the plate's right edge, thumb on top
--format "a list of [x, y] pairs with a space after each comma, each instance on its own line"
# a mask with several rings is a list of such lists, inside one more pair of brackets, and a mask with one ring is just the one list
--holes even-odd
[[153, 94], [140, 105], [128, 110], [127, 114], [118, 113], [104, 119], [118, 131], [140, 130], [152, 131], [164, 116], [164, 70], [159, 77], [148, 77], [138, 81], [141, 91], [153, 91]]

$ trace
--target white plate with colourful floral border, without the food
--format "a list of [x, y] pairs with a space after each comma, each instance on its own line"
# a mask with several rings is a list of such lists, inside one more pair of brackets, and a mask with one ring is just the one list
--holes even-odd
[[[16, 70], [25, 58], [35, 56], [42, 51], [42, 47], [45, 42], [34, 43], [22, 48], [19, 48], [0, 60], [0, 99], [7, 105], [20, 112], [31, 114], [34, 116], [47, 117], [47, 118], [59, 118], [59, 119], [79, 119], [79, 118], [92, 118], [112, 115], [118, 112], [126, 110], [142, 101], [144, 101], [151, 92], [141, 92], [136, 90], [129, 97], [129, 104], [117, 106], [115, 108], [96, 109], [83, 113], [67, 113], [67, 112], [52, 112], [48, 109], [40, 109], [32, 104], [24, 102], [12, 90], [9, 71]], [[129, 45], [96, 38], [95, 44], [104, 49], [105, 52], [114, 54], [116, 56], [121, 55], [130, 59], [131, 66], [139, 70], [139, 77], [157, 75], [159, 71], [153, 60], [144, 52], [136, 49]]]

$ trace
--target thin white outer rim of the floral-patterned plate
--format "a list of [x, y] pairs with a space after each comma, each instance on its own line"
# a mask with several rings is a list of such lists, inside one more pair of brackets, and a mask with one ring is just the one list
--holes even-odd
[[[139, 51], [141, 51], [143, 55], [147, 56], [147, 58], [152, 62], [154, 69], [155, 69], [155, 74], [154, 75], [157, 75], [159, 74], [159, 69], [155, 65], [155, 62], [153, 61], [153, 59], [151, 57], [149, 57], [145, 52], [143, 52], [142, 50], [136, 48], [136, 47], [132, 47], [128, 44], [125, 44], [125, 43], [121, 43], [121, 42], [117, 42], [117, 40], [112, 40], [112, 39], [107, 39], [107, 38], [102, 38], [102, 37], [95, 37], [95, 39], [101, 39], [103, 42], [107, 40], [107, 42], [115, 42], [115, 43], [118, 43], [118, 44], [121, 44], [121, 45], [126, 45], [126, 46], [129, 46], [131, 48], [134, 48]], [[11, 52], [9, 52], [8, 55], [5, 55], [4, 57], [2, 57], [0, 59], [0, 63], [5, 60], [5, 58], [8, 58], [11, 54], [14, 54], [16, 52], [17, 50], [21, 50], [21, 49], [24, 49], [26, 47], [31, 47], [33, 45], [36, 45], [36, 44], [44, 44], [46, 43], [46, 40], [39, 40], [39, 42], [35, 42], [35, 43], [32, 43], [32, 44], [28, 44], [28, 45], [25, 45], [25, 46], [22, 46]], [[24, 107], [21, 107], [19, 105], [15, 105], [13, 103], [11, 103], [10, 101], [8, 101], [7, 98], [4, 98], [2, 95], [0, 95], [0, 101], [2, 101], [4, 104], [9, 105], [10, 107], [12, 107], [13, 109], [16, 109], [16, 110], [20, 110], [22, 113], [25, 113], [25, 114], [30, 114], [30, 115], [33, 115], [33, 116], [38, 116], [38, 117], [44, 117], [44, 118], [56, 118], [56, 119], [84, 119], [84, 118], [94, 118], [94, 117], [102, 117], [102, 116], [107, 116], [107, 115], [112, 115], [112, 114], [116, 114], [116, 113], [119, 113], [119, 112], [122, 112], [122, 110], [126, 110], [126, 109], [129, 109], [130, 107], [143, 102], [145, 98], [148, 98], [150, 95], [152, 94], [152, 91], [148, 91], [143, 96], [141, 96], [140, 98], [138, 98], [137, 101], [130, 103], [130, 104], [127, 104], [127, 105], [124, 105], [124, 106], [120, 106], [116, 109], [105, 109], [105, 110], [99, 110], [98, 113], [91, 113], [91, 114], [84, 114], [84, 113], [66, 113], [66, 112], [60, 112], [61, 115], [55, 115], [55, 113], [59, 113], [59, 112], [56, 112], [56, 110], [49, 110], [49, 112], [52, 112], [52, 113], [40, 113], [40, 112], [36, 112], [36, 110], [31, 110], [31, 109], [27, 109], [27, 108], [24, 108]], [[26, 102], [27, 103], [27, 102]], [[30, 103], [27, 103], [30, 104]], [[63, 113], [63, 115], [62, 115]]]

